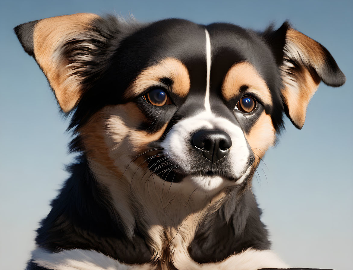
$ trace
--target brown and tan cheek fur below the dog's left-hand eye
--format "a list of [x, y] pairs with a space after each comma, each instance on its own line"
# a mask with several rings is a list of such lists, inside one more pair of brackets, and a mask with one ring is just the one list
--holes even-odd
[[150, 142], [158, 140], [167, 125], [150, 133], [139, 129], [145, 121], [145, 116], [133, 102], [106, 106], [78, 129], [78, 136], [88, 158], [121, 177], [121, 171], [130, 162], [136, 162], [135, 157], [148, 151]]

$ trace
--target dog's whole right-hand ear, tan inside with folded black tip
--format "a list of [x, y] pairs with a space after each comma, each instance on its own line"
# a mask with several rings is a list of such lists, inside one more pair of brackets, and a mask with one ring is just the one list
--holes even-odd
[[346, 76], [325, 47], [293, 29], [288, 22], [276, 31], [269, 28], [263, 36], [281, 69], [286, 115], [301, 129], [307, 106], [320, 81], [339, 87], [346, 82]]

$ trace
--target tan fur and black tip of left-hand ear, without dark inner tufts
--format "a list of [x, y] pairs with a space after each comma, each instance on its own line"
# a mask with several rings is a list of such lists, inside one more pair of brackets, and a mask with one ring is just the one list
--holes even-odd
[[[82, 76], [77, 75], [75, 66], [62, 55], [61, 48], [66, 42], [84, 37], [91, 22], [99, 18], [96, 14], [78, 13], [46, 18], [19, 25], [15, 32], [26, 52], [34, 56], [48, 78], [56, 99], [64, 112], [71, 111], [82, 95]], [[30, 36], [32, 35], [32, 36]], [[29, 42], [31, 41], [31, 42]], [[24, 44], [26, 43], [26, 44]], [[29, 43], [32, 43], [29, 45]], [[90, 44], [85, 44], [90, 48]], [[90, 49], [94, 49], [91, 47]], [[78, 55], [77, 58], [88, 57]]]

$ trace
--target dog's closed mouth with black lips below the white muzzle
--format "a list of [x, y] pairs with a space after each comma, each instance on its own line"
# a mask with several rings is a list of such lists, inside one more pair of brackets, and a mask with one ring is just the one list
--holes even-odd
[[228, 181], [236, 182], [239, 178], [234, 178], [222, 168], [212, 166], [211, 168], [195, 168], [190, 173], [185, 173], [180, 170], [179, 166], [174, 164], [165, 155], [155, 155], [150, 158], [148, 168], [151, 173], [159, 176], [164, 181], [171, 183], [179, 183], [186, 176], [199, 176], [199, 177], [222, 177]]

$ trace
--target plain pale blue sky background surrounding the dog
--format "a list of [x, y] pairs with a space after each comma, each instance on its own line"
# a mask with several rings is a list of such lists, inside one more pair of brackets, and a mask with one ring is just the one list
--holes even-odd
[[0, 269], [23, 269], [34, 230], [68, 176], [70, 134], [54, 95], [12, 28], [77, 12], [132, 13], [138, 20], [181, 17], [264, 29], [285, 19], [321, 42], [347, 76], [321, 84], [302, 130], [287, 131], [254, 179], [273, 248], [292, 266], [348, 270], [353, 265], [352, 1], [6, 1], [0, 2]]

